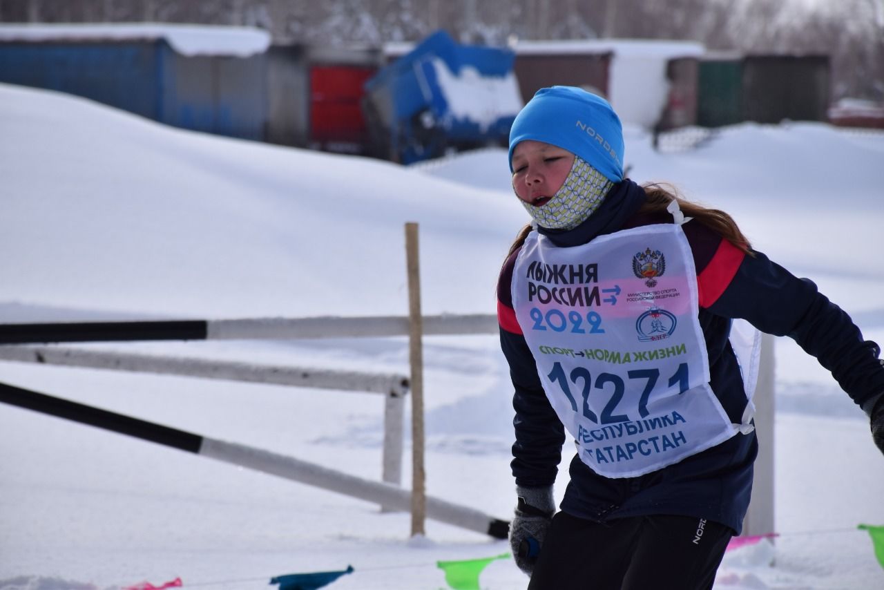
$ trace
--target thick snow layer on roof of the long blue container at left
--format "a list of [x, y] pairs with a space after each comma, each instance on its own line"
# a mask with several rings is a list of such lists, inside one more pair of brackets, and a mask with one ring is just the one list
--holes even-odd
[[248, 57], [270, 47], [271, 35], [255, 27], [171, 23], [13, 24], [0, 25], [0, 42], [132, 41], [164, 39], [186, 56]]

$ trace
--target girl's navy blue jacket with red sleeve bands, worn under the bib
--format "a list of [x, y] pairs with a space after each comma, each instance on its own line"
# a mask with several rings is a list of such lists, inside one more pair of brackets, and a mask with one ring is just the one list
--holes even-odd
[[[568, 247], [621, 229], [672, 222], [668, 213], [638, 214], [644, 199], [644, 189], [623, 180], [580, 226], [539, 231], [556, 246]], [[857, 404], [884, 392], [879, 347], [864, 341], [850, 317], [819, 293], [812, 281], [796, 278], [760, 252], [747, 256], [696, 220], [682, 228], [697, 269], [699, 322], [709, 356], [710, 386], [732, 422], [741, 422], [746, 396], [728, 341], [731, 318], [744, 318], [762, 332], [795, 339], [832, 372]], [[545, 487], [552, 485], [558, 472], [565, 430], [546, 398], [534, 357], [515, 319], [511, 283], [518, 252], [507, 258], [498, 284], [500, 345], [515, 390], [512, 470], [516, 485]], [[625, 479], [598, 475], [575, 455], [561, 510], [598, 522], [650, 514], [708, 518], [739, 534], [757, 454], [755, 433], [736, 434], [680, 463]]]

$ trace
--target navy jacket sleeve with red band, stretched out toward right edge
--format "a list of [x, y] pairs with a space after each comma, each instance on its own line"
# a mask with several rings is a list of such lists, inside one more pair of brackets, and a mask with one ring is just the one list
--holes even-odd
[[850, 316], [811, 280], [798, 279], [761, 252], [747, 256], [720, 241], [697, 281], [701, 306], [718, 316], [746, 319], [762, 332], [789, 336], [864, 409], [884, 392], [879, 346], [865, 341]]

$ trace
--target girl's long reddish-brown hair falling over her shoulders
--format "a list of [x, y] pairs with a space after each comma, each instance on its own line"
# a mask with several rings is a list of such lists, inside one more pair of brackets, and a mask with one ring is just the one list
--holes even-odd
[[[639, 214], [666, 213], [669, 203], [675, 201], [684, 213], [685, 217], [694, 218], [697, 222], [703, 224], [709, 229], [719, 234], [722, 238], [734, 244], [737, 248], [743, 250], [750, 255], [751, 245], [749, 239], [740, 231], [740, 227], [736, 225], [732, 218], [725, 211], [719, 209], [710, 209], [699, 203], [693, 203], [678, 195], [675, 188], [656, 182], [649, 182], [642, 185], [644, 189], [645, 201], [639, 208]], [[516, 249], [522, 247], [525, 238], [530, 234], [530, 224], [522, 227], [519, 234], [515, 236], [513, 245], [510, 246], [507, 258], [510, 257]]]

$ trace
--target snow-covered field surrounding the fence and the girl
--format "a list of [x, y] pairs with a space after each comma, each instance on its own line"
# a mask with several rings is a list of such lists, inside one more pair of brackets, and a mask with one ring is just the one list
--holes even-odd
[[[746, 124], [694, 149], [650, 144], [628, 130], [634, 180], [730, 211], [757, 249], [884, 341], [884, 134]], [[404, 169], [0, 85], [0, 322], [406, 315], [407, 221], [420, 223], [424, 313], [493, 313], [525, 222], [506, 153]], [[403, 338], [88, 348], [408, 372]], [[424, 359], [428, 493], [508, 519], [511, 388], [496, 337], [427, 337]], [[884, 525], [884, 457], [865, 416], [790, 341], [777, 342], [776, 375], [780, 537], [728, 552], [716, 588], [884, 587], [857, 530]], [[7, 362], [0, 381], [380, 478], [377, 395]], [[4, 590], [263, 588], [347, 565], [329, 588], [435, 590], [447, 587], [439, 560], [508, 551], [431, 520], [411, 540], [408, 514], [11, 406], [0, 448]], [[480, 578], [526, 581], [510, 559]]]

